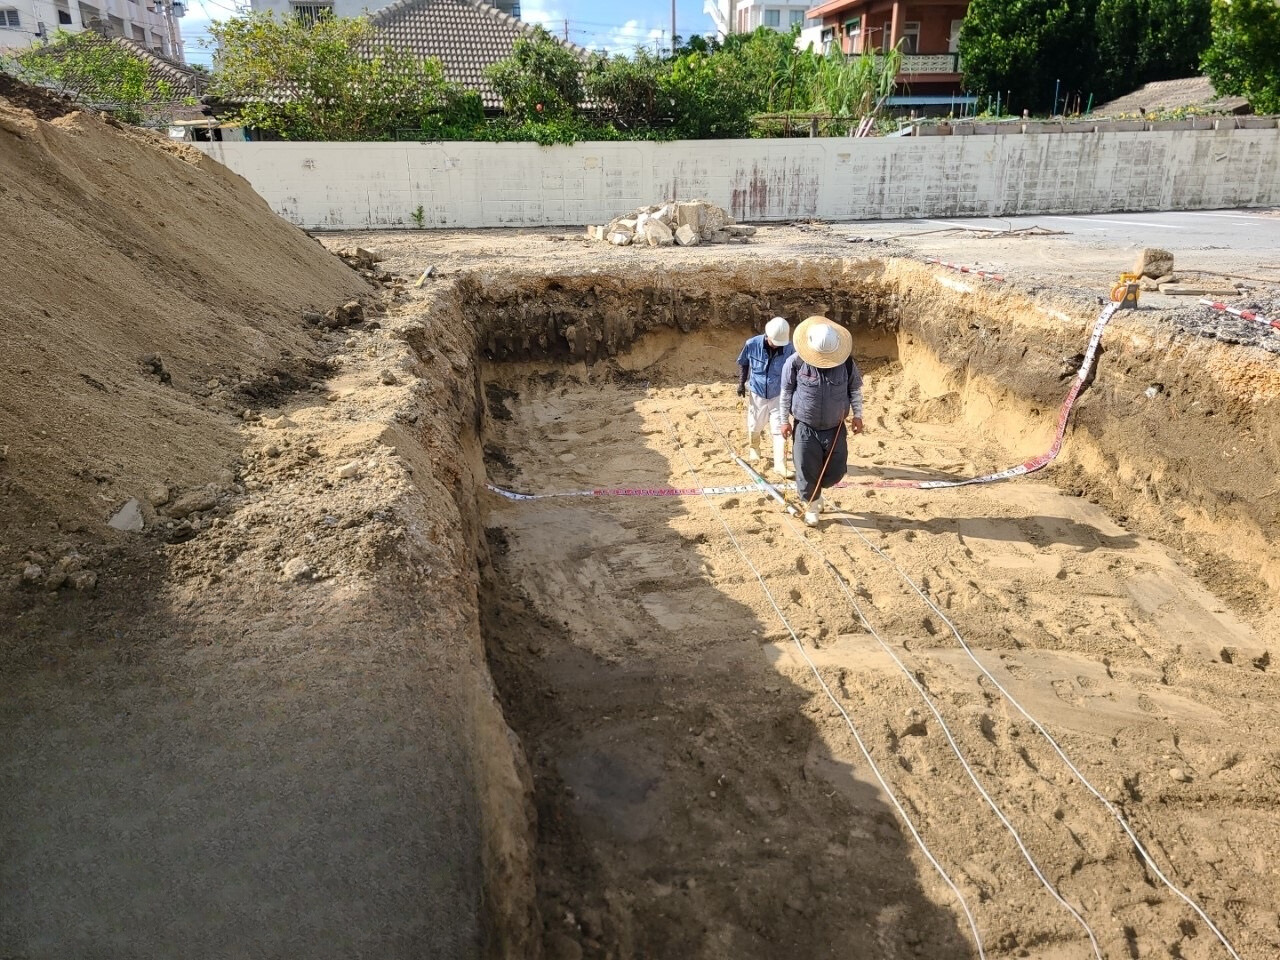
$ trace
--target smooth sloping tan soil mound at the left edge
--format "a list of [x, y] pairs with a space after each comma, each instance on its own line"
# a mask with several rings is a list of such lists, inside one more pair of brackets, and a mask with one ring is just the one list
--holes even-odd
[[49, 541], [116, 535], [131, 499], [150, 522], [215, 483], [246, 398], [316, 361], [301, 311], [370, 288], [196, 151], [4, 84], [0, 568], [20, 576]]

